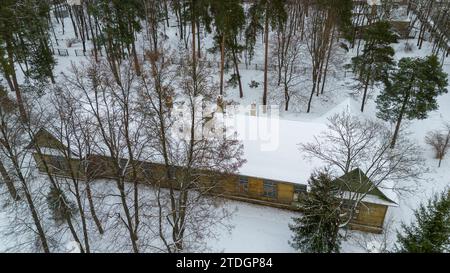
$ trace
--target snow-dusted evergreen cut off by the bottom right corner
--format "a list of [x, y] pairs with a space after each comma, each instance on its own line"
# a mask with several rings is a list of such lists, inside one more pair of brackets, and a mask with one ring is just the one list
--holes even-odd
[[402, 224], [397, 252], [441, 253], [450, 251], [450, 192], [435, 195], [414, 212], [415, 221]]

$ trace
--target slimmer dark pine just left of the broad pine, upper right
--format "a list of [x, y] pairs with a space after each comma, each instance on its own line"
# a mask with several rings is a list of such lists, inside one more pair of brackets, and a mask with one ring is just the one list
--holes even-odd
[[361, 112], [364, 112], [369, 86], [387, 79], [395, 64], [395, 51], [390, 44], [396, 43], [397, 37], [390, 27], [386, 21], [368, 26], [362, 37], [365, 42], [363, 53], [352, 59], [353, 71], [363, 89]]

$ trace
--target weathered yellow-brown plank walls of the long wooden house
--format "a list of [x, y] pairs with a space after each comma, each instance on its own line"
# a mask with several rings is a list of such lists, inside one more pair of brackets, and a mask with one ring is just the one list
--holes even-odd
[[[63, 170], [51, 167], [52, 162], [55, 162], [54, 157], [50, 155], [44, 155], [44, 159], [50, 165], [50, 171], [54, 172], [56, 175], [70, 176], [70, 174], [64, 172]], [[53, 158], [52, 158], [53, 157]], [[37, 162], [39, 170], [45, 172], [42, 160], [36, 154], [34, 158]], [[89, 157], [89, 162], [93, 163], [88, 169], [90, 169], [91, 177], [94, 175], [96, 178], [114, 178], [114, 164], [111, 160], [104, 156], [92, 156]], [[72, 166], [74, 169], [79, 168], [79, 162], [76, 159], [72, 160]], [[141, 162], [139, 164], [140, 171], [137, 174], [138, 180], [146, 184], [152, 184], [152, 180], [158, 180], [160, 186], [167, 186], [164, 184], [165, 168], [161, 164]], [[175, 175], [176, 174], [175, 170]], [[149, 176], [149, 174], [151, 175]], [[207, 188], [212, 182], [208, 180], [207, 171], [200, 172], [200, 175], [204, 174], [199, 178], [200, 185], [204, 185]], [[128, 176], [130, 174], [128, 173]], [[217, 175], [214, 176], [217, 178]], [[276, 195], [275, 197], [264, 196], [264, 179], [257, 177], [246, 177], [248, 180], [247, 191], [243, 191], [239, 187], [239, 175], [236, 174], [226, 174], [219, 176], [214, 183], [219, 185], [218, 187], [212, 187], [214, 190], [210, 194], [223, 196], [229, 199], [241, 200], [250, 203], [256, 203], [260, 205], [267, 205], [277, 208], [284, 208], [290, 210], [299, 210], [296, 206], [296, 201], [294, 200], [294, 183], [273, 181], [276, 183]], [[131, 176], [130, 176], [131, 179]], [[386, 205], [378, 205], [372, 203], [361, 203], [358, 206], [357, 216], [352, 220], [350, 228], [357, 229], [366, 232], [379, 233], [383, 229], [384, 218], [387, 212]]]

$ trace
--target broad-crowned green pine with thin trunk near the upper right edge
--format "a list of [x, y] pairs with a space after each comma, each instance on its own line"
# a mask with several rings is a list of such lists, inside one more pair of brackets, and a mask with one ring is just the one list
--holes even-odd
[[395, 146], [403, 118], [427, 118], [428, 112], [438, 108], [437, 96], [447, 93], [447, 84], [447, 74], [434, 55], [399, 61], [397, 71], [377, 98], [377, 116], [396, 122], [391, 147]]

